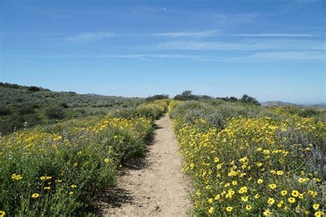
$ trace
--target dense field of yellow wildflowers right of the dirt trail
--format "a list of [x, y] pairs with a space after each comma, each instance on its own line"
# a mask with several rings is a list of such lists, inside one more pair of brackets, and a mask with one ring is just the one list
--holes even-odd
[[325, 116], [219, 100], [172, 101], [169, 113], [193, 214], [323, 216]]

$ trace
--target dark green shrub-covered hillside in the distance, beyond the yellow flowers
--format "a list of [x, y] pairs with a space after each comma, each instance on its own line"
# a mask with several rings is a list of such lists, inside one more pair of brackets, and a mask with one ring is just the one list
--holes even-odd
[[141, 98], [55, 92], [0, 82], [0, 132], [53, 124], [59, 120], [102, 116], [118, 108], [133, 108]]

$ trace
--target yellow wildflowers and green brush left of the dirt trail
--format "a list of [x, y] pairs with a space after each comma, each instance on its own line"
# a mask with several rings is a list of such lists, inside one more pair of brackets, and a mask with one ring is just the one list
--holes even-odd
[[0, 138], [0, 216], [76, 216], [144, 155], [168, 101], [105, 117], [21, 130]]

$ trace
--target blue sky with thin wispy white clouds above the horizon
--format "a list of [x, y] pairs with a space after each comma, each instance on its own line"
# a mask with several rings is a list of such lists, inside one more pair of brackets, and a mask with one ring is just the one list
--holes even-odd
[[322, 0], [1, 0], [0, 10], [1, 82], [326, 102]]

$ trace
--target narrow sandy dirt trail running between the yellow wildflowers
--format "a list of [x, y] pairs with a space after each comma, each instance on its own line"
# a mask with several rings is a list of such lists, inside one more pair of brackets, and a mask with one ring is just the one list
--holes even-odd
[[186, 216], [191, 207], [189, 182], [181, 168], [171, 120], [164, 115], [155, 122], [154, 141], [146, 157], [124, 170], [99, 215]]

